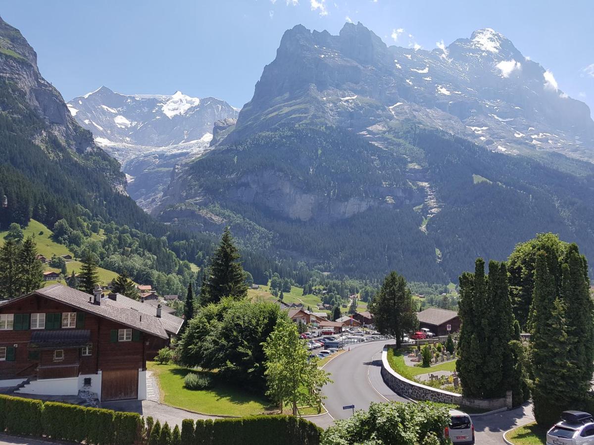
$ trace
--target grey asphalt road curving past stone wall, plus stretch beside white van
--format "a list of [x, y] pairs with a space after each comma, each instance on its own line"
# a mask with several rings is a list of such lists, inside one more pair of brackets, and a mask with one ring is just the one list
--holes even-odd
[[[371, 402], [409, 402], [391, 390], [381, 378], [381, 351], [384, 345], [393, 341], [367, 342], [352, 345], [350, 350], [330, 360], [324, 370], [332, 374], [334, 383], [327, 384], [323, 393], [327, 397], [324, 406], [328, 414], [309, 418], [320, 427], [326, 428], [334, 419], [345, 419], [352, 415], [352, 409], [343, 406], [355, 405], [355, 409], [368, 409]], [[534, 420], [532, 406], [520, 406], [511, 411], [482, 417], [473, 417], [476, 444], [503, 444], [503, 433], [518, 425]]]

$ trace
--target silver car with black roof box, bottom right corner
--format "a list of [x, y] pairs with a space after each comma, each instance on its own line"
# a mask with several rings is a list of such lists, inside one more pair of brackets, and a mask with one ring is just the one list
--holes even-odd
[[563, 411], [561, 421], [546, 432], [546, 443], [554, 445], [594, 444], [594, 418], [583, 411]]

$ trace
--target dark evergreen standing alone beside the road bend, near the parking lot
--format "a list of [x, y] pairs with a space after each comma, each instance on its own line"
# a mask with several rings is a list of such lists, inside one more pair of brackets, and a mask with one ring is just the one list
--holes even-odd
[[402, 333], [418, 325], [415, 303], [406, 279], [394, 271], [386, 276], [380, 292], [368, 307], [377, 330], [394, 336], [397, 348], [402, 342]]

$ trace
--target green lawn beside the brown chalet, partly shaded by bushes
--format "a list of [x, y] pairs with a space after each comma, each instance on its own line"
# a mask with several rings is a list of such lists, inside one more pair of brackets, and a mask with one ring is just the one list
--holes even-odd
[[247, 416], [264, 414], [270, 402], [238, 387], [217, 383], [208, 390], [192, 391], [184, 387], [184, 377], [191, 370], [176, 365], [147, 362], [158, 380], [161, 399], [166, 405], [211, 415]]

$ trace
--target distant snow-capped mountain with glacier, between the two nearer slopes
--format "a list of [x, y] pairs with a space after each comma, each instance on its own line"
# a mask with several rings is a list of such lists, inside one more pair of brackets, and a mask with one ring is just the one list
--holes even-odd
[[67, 105], [95, 142], [122, 163], [128, 193], [149, 212], [160, 204], [176, 164], [204, 154], [216, 123], [238, 116], [223, 100], [181, 91], [119, 94], [101, 87]]

